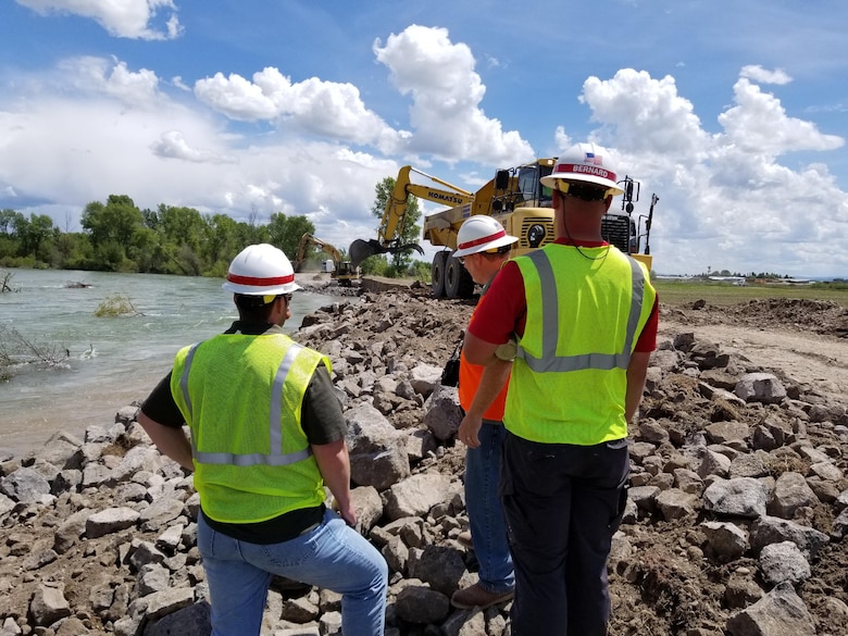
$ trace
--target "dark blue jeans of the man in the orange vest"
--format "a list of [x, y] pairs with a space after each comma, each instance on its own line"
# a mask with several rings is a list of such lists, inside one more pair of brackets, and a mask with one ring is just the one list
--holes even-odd
[[479, 584], [492, 594], [515, 587], [512, 557], [507, 537], [498, 483], [506, 429], [484, 420], [477, 434], [479, 446], [465, 452], [465, 506], [471, 539], [479, 563]]

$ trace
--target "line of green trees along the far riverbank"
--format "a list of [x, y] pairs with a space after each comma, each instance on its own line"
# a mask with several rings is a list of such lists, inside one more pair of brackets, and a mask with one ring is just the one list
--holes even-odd
[[[372, 212], [385, 207], [394, 187], [387, 177], [375, 188]], [[411, 198], [412, 199], [412, 198]], [[411, 207], [417, 212], [416, 202]], [[419, 233], [415, 214], [406, 233]], [[110, 195], [105, 202], [88, 203], [80, 215], [82, 232], [62, 232], [47, 214], [27, 217], [11, 209], [0, 210], [0, 267], [49, 267], [104, 272], [141, 272], [187, 276], [226, 276], [229, 262], [246, 246], [270, 242], [289, 259], [297, 254], [303, 234], [315, 226], [303, 215], [271, 214], [267, 223], [248, 222], [226, 214], [201, 214], [194, 208], [161, 203], [154, 210], [139, 209], [126, 195]], [[345, 248], [337, 248], [342, 255]], [[307, 259], [319, 259], [309, 247]], [[372, 257], [363, 274], [406, 274], [414, 264], [408, 259], [388, 262]]]

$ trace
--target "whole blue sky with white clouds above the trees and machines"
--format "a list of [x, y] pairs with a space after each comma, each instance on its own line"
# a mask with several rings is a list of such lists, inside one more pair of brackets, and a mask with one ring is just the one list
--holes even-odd
[[658, 272], [848, 277], [844, 0], [0, 7], [0, 208], [63, 230], [114, 194], [345, 248], [404, 164], [474, 190], [594, 140]]

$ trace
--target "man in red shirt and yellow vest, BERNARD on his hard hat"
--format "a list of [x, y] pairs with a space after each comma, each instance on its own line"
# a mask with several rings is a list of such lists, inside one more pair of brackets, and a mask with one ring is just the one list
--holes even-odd
[[627, 423], [656, 348], [649, 272], [603, 240], [621, 195], [610, 153], [573, 146], [541, 184], [556, 236], [504, 265], [470, 325], [474, 364], [515, 359], [501, 497], [515, 566], [512, 636], [606, 636], [607, 559], [627, 500]]

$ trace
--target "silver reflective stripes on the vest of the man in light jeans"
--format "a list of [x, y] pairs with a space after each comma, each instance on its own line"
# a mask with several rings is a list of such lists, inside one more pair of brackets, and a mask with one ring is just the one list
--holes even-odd
[[[198, 342], [200, 345], [200, 342]], [[191, 413], [191, 402], [188, 397], [188, 371], [195, 358], [195, 350], [198, 345], [191, 347], [186, 354], [186, 367], [179, 379], [179, 386], [183, 389], [183, 397], [188, 406], [188, 412]], [[234, 466], [254, 466], [263, 464], [266, 466], [286, 466], [299, 461], [303, 461], [312, 454], [312, 449], [308, 446], [303, 450], [283, 454], [283, 386], [286, 383], [291, 364], [295, 362], [298, 353], [303, 349], [302, 346], [292, 344], [279, 363], [277, 374], [274, 377], [274, 385], [271, 394], [271, 416], [269, 417], [269, 436], [271, 438], [271, 453], [263, 454], [259, 452], [250, 454], [235, 454], [232, 452], [200, 452], [195, 446], [195, 439], [191, 439], [191, 453], [195, 459], [204, 464], [227, 464]]]

